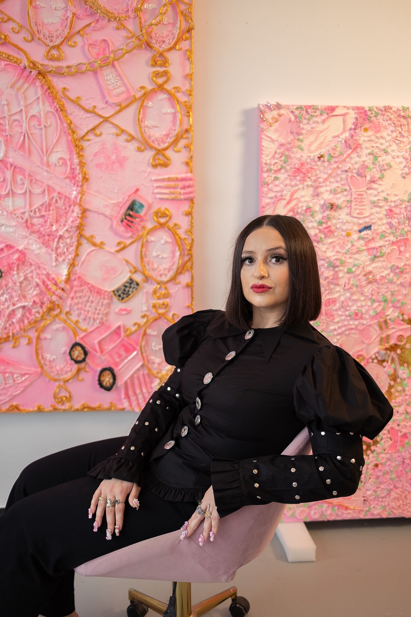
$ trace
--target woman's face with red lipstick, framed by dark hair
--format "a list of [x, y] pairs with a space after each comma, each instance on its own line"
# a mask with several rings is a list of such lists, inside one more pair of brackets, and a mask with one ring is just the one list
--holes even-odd
[[[253, 317], [261, 313], [277, 319], [285, 311], [288, 302], [287, 257], [283, 237], [271, 226], [254, 230], [246, 238], [241, 283], [246, 300], [253, 305]], [[261, 285], [269, 289], [263, 292], [253, 290], [253, 286]]]

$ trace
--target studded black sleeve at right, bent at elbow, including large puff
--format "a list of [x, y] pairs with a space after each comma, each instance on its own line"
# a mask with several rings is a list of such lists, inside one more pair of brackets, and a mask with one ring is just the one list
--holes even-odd
[[374, 439], [393, 417], [378, 384], [348, 352], [330, 344], [315, 351], [298, 375], [293, 400], [312, 454], [214, 459], [217, 507], [306, 503], [357, 491], [365, 465], [362, 436]]

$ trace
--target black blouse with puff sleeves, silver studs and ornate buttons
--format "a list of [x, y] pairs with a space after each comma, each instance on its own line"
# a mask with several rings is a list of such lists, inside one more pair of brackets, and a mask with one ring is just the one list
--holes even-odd
[[[184, 315], [162, 336], [174, 371], [121, 449], [88, 472], [219, 510], [306, 503], [356, 492], [393, 407], [370, 373], [309, 322], [248, 331], [222, 310]], [[281, 452], [307, 426], [312, 455]]]

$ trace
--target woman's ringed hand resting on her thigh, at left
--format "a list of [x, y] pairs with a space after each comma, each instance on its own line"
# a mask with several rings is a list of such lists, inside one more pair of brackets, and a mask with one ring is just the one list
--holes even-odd
[[[105, 516], [107, 518], [107, 540], [112, 539], [113, 531], [115, 531], [116, 536], [118, 536], [123, 528], [124, 506], [127, 495], [129, 495], [128, 502], [131, 507], [137, 508], [138, 510], [139, 500], [137, 497], [139, 496], [140, 490], [140, 487], [135, 482], [126, 482], [125, 480], [116, 480], [115, 478], [103, 480], [94, 493], [89, 508], [89, 518], [96, 512], [94, 531], [97, 531], [102, 524], [105, 511]], [[106, 501], [102, 501], [99, 497], [104, 497]], [[107, 508], [107, 499], [111, 499], [112, 501], [118, 499], [120, 503], [116, 503], [115, 506]]]

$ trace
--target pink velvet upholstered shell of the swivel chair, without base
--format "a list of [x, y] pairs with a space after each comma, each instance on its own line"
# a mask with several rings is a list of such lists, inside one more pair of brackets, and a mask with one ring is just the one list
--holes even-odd
[[[282, 453], [291, 456], [310, 452], [309, 433], [304, 427]], [[87, 561], [75, 571], [83, 576], [152, 581], [232, 581], [237, 569], [258, 557], [269, 544], [284, 509], [285, 503], [276, 502], [246, 505], [224, 516], [214, 542], [205, 542], [202, 547], [198, 533], [180, 540], [176, 530]]]

